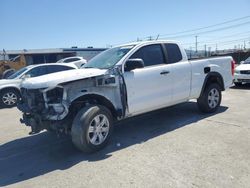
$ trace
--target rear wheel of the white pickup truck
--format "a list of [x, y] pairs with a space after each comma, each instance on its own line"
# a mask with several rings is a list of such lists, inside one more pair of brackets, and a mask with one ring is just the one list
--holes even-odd
[[206, 86], [202, 95], [197, 99], [197, 104], [201, 112], [213, 113], [221, 103], [221, 88], [213, 83]]

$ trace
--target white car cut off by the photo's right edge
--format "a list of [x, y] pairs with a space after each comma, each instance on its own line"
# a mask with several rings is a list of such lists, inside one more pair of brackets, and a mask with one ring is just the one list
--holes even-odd
[[234, 84], [240, 86], [243, 83], [250, 83], [250, 57], [242, 61], [235, 69]]

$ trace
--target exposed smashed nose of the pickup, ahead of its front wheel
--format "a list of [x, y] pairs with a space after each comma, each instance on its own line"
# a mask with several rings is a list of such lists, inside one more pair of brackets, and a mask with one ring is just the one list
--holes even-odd
[[65, 104], [64, 89], [61, 86], [46, 89], [21, 88], [22, 100], [17, 105], [23, 112], [21, 123], [31, 127], [30, 134], [39, 133], [43, 129], [65, 129], [60, 120], [68, 114]]

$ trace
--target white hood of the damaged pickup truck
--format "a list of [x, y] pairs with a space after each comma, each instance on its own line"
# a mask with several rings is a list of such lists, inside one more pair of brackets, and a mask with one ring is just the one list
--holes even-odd
[[107, 70], [96, 68], [68, 70], [44, 76], [38, 76], [35, 78], [29, 78], [22, 82], [21, 87], [26, 89], [55, 87], [60, 83], [101, 76], [106, 72]]

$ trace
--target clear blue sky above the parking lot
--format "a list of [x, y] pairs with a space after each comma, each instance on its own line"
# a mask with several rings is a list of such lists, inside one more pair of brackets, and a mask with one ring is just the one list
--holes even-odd
[[199, 49], [250, 48], [250, 0], [0, 0], [0, 9], [0, 50], [110, 47], [158, 35], [187, 49], [195, 36]]

